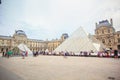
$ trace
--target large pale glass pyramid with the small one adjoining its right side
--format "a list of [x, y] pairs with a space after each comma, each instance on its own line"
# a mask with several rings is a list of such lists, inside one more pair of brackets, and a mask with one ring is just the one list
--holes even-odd
[[[93, 39], [93, 40], [92, 40]], [[95, 42], [94, 42], [95, 41]], [[54, 51], [68, 51], [79, 53], [80, 51], [101, 51], [105, 46], [97, 39], [89, 38], [82, 27], [79, 27], [68, 39], [59, 45]]]

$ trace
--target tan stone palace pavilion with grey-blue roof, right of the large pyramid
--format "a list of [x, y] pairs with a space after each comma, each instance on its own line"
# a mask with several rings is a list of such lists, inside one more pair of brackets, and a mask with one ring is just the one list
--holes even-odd
[[120, 31], [115, 31], [113, 21], [110, 19], [96, 23], [95, 38], [100, 40], [109, 49], [120, 50]]

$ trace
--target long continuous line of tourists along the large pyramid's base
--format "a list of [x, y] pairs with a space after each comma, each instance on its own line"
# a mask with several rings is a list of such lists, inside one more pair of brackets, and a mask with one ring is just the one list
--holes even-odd
[[87, 52], [80, 51], [79, 53], [61, 51], [61, 52], [50, 52], [50, 51], [33, 51], [33, 56], [36, 57], [38, 55], [55, 55], [55, 56], [84, 56], [84, 57], [120, 57], [119, 50], [109, 50], [109, 51], [99, 51], [99, 52]]

